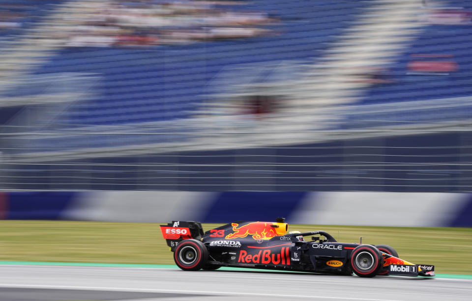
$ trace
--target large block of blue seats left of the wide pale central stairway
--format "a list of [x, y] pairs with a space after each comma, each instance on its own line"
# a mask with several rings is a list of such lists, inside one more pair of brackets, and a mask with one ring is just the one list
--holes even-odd
[[[100, 77], [95, 95], [71, 104], [63, 124], [120, 125], [191, 116], [215, 92], [211, 79], [233, 64], [312, 59], [336, 40], [369, 1], [256, 0], [233, 10], [263, 11], [280, 21], [280, 35], [157, 46], [151, 49], [67, 48], [35, 74], [91, 73]], [[213, 89], [213, 90], [212, 90]], [[4, 91], [18, 96], [25, 91]]]

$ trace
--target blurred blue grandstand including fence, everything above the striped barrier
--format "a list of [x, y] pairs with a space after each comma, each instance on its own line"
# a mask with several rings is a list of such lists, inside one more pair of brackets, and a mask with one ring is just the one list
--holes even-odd
[[466, 0], [0, 0], [2, 190], [470, 192]]

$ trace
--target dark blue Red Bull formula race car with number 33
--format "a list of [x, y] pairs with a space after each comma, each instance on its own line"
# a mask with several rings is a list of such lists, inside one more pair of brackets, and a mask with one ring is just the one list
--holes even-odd
[[[434, 266], [398, 258], [387, 245], [338, 243], [324, 231], [287, 233], [285, 219], [236, 221], [204, 233], [201, 223], [161, 225], [177, 266], [185, 271], [219, 267], [290, 270], [325, 274], [434, 276]], [[303, 237], [313, 236], [312, 241]]]

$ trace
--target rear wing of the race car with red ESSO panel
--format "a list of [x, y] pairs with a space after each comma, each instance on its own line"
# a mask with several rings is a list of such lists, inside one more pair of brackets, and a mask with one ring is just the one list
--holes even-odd
[[171, 247], [171, 251], [184, 239], [201, 239], [204, 235], [203, 227], [200, 222], [173, 220], [167, 225], [161, 225], [162, 236]]

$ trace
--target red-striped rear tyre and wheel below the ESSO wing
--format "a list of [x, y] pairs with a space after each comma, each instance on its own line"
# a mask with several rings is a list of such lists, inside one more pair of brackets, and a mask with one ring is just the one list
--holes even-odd
[[174, 251], [174, 261], [184, 271], [198, 271], [207, 265], [207, 247], [195, 239], [183, 240]]

